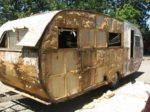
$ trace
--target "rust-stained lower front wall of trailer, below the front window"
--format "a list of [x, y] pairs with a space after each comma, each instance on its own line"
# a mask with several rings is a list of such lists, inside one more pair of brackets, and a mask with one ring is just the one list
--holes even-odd
[[[37, 53], [30, 50], [24, 53], [1, 51], [0, 55], [0, 79], [2, 82], [46, 98], [39, 82]], [[37, 91], [39, 91], [38, 94]]]

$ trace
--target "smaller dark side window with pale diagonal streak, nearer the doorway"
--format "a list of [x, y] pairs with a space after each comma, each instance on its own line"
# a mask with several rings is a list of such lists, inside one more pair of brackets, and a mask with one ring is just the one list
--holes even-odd
[[121, 33], [109, 32], [108, 46], [121, 46]]

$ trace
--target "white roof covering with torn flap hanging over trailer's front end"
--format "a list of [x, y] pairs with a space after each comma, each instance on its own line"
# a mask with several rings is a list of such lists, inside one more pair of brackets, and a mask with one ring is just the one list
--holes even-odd
[[3, 38], [4, 32], [26, 28], [28, 32], [17, 45], [34, 47], [41, 38], [46, 26], [59, 12], [60, 11], [50, 11], [39, 15], [8, 21], [0, 27], [0, 41]]

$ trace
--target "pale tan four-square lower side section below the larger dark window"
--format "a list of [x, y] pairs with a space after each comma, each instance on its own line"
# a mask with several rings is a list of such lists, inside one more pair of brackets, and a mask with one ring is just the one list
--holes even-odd
[[46, 53], [42, 60], [47, 65], [42, 67], [46, 71], [45, 86], [54, 98], [60, 99], [80, 91], [78, 58], [76, 49]]

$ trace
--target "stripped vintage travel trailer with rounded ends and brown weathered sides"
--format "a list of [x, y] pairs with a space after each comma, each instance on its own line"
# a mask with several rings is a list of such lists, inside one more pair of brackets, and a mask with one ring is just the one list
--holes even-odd
[[96, 12], [50, 11], [0, 28], [1, 82], [45, 104], [114, 86], [142, 56], [138, 28]]

